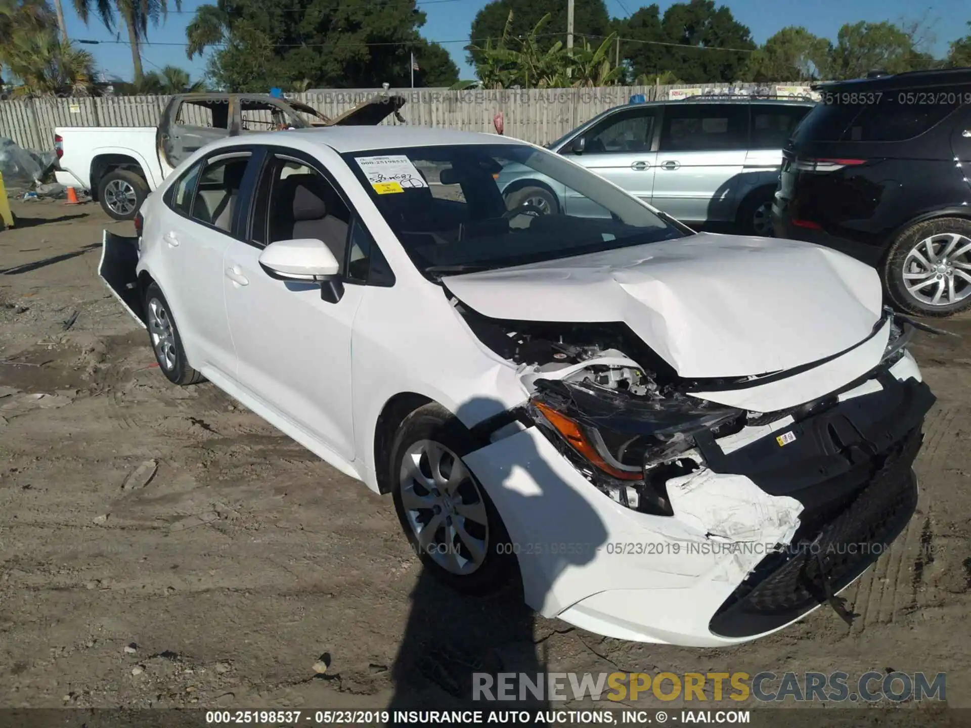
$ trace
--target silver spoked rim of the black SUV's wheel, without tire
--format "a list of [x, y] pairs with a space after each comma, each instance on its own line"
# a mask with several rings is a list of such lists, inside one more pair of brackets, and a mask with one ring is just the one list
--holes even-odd
[[926, 306], [951, 306], [971, 295], [971, 239], [957, 233], [924, 238], [907, 253], [904, 287]]

